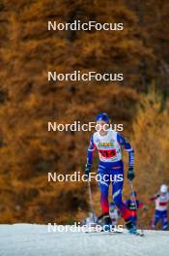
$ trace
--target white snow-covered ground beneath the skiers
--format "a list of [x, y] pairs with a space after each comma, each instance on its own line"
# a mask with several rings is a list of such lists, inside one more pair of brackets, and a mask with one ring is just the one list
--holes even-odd
[[45, 225], [0, 225], [0, 256], [167, 256], [169, 231], [129, 234], [48, 232]]

